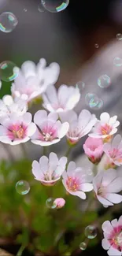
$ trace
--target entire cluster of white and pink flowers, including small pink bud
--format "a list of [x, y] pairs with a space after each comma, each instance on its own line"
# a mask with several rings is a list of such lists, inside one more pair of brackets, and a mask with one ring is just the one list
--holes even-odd
[[[36, 180], [46, 186], [53, 186], [62, 176], [62, 183], [71, 195], [86, 199], [85, 192], [94, 191], [103, 206], [113, 206], [122, 202], [122, 173], [116, 166], [122, 165], [122, 138], [113, 135], [117, 132], [120, 122], [117, 117], [109, 117], [102, 113], [100, 120], [87, 109], [79, 116], [72, 109], [79, 102], [78, 87], [61, 85], [58, 91], [54, 87], [59, 75], [59, 66], [52, 63], [46, 67], [41, 59], [38, 65], [26, 61], [19, 75], [12, 84], [12, 95], [6, 95], [0, 101], [0, 141], [17, 145], [31, 139], [32, 143], [46, 147], [58, 143], [65, 135], [70, 145], [76, 145], [84, 135], [88, 135], [83, 150], [89, 160], [98, 165], [103, 154], [109, 159], [107, 170], [90, 176], [86, 170], [76, 167], [74, 161], [51, 152], [49, 158], [42, 156], [32, 162], [32, 173]], [[43, 108], [34, 115], [33, 122], [28, 106], [34, 98], [43, 98]], [[50, 113], [47, 113], [50, 112]], [[65, 200], [58, 198], [58, 208]], [[122, 217], [119, 221], [105, 221], [102, 225], [105, 239], [102, 246], [109, 255], [121, 255], [122, 248]], [[119, 254], [117, 254], [119, 252]]]

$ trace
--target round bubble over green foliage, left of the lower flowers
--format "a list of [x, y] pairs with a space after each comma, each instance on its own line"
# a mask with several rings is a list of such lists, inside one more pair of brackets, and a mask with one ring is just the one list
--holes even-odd
[[16, 184], [16, 190], [17, 193], [20, 195], [27, 195], [30, 191], [30, 186], [28, 184], [28, 181], [26, 180], [19, 180]]

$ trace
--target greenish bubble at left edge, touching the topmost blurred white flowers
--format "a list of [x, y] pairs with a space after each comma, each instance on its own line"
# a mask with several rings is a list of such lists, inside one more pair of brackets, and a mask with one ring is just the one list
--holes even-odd
[[19, 68], [12, 61], [3, 61], [0, 64], [0, 78], [3, 81], [13, 81], [19, 73]]

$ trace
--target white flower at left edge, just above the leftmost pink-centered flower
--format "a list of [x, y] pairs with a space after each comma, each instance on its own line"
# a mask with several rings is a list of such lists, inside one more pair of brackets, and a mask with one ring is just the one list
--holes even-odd
[[28, 110], [27, 103], [20, 99], [14, 98], [11, 95], [5, 95], [0, 100], [0, 117], [6, 117], [11, 113], [16, 113], [18, 116], [23, 115]]

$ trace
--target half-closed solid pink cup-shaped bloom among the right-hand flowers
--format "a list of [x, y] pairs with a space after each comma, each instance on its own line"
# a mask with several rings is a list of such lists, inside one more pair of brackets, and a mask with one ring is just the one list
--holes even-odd
[[98, 164], [101, 161], [103, 154], [103, 143], [102, 139], [87, 138], [83, 144], [83, 149], [87, 157], [93, 164]]

